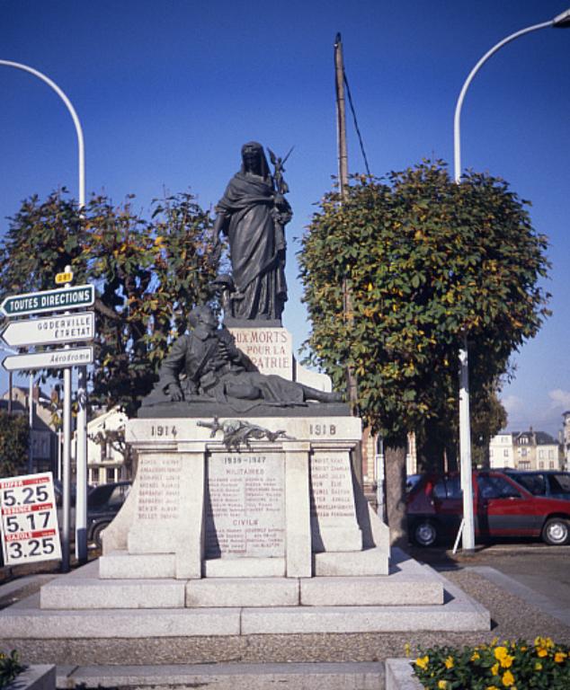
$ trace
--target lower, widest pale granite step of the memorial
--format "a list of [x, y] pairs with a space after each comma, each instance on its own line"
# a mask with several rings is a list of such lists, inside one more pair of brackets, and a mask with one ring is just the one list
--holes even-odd
[[483, 631], [489, 612], [441, 576], [441, 606], [260, 606], [40, 609], [40, 597], [0, 611], [2, 643], [327, 632]]

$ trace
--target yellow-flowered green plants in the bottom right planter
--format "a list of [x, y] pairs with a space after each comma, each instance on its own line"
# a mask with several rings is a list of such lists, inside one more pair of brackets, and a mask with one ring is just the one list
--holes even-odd
[[[409, 653], [409, 648], [406, 650]], [[496, 639], [476, 647], [419, 648], [411, 662], [426, 690], [567, 690], [570, 647], [548, 637], [533, 643]]]

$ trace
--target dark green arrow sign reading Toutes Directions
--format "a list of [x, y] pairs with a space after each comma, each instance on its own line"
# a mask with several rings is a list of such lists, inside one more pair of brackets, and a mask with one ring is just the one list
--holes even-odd
[[80, 306], [92, 306], [94, 302], [93, 285], [76, 285], [73, 288], [58, 288], [5, 297], [0, 305], [0, 311], [9, 317], [25, 316], [45, 312], [64, 312], [67, 309], [78, 309]]

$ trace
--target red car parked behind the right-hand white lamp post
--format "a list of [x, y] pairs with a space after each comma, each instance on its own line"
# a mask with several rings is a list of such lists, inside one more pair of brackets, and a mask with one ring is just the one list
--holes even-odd
[[[415, 544], [454, 538], [463, 516], [459, 475], [424, 474], [408, 494], [406, 510]], [[473, 512], [480, 541], [536, 537], [551, 545], [570, 543], [570, 501], [534, 496], [502, 472], [473, 473]]]

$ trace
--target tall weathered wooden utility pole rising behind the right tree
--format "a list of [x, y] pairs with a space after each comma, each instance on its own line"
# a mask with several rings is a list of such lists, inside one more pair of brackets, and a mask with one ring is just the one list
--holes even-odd
[[[341, 191], [341, 199], [348, 195], [348, 147], [346, 145], [346, 109], [344, 103], [344, 61], [343, 41], [341, 34], [337, 33], [334, 39], [334, 82], [336, 84], [336, 135], [338, 141], [338, 181]], [[343, 319], [349, 329], [352, 329], [354, 314], [352, 311], [352, 294], [348, 277], [343, 277]], [[351, 413], [358, 417], [358, 388], [354, 367], [348, 364], [346, 367], [346, 387]], [[362, 485], [362, 453], [358, 444], [352, 454], [354, 473]]]

